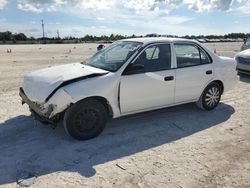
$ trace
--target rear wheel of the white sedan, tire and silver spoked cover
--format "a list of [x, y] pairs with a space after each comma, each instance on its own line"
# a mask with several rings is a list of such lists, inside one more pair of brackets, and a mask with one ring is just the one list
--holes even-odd
[[213, 82], [203, 91], [197, 106], [204, 110], [213, 110], [220, 103], [222, 88], [219, 84]]

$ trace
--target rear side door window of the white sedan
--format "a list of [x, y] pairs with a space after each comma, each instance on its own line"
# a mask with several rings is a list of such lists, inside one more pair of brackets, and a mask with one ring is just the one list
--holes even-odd
[[206, 53], [193, 44], [175, 44], [177, 68], [210, 63]]

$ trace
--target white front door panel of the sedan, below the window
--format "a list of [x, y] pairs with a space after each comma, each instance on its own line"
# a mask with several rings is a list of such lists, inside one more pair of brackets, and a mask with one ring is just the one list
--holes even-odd
[[[174, 104], [174, 81], [164, 77], [174, 76], [174, 70], [147, 72], [122, 76], [120, 82], [121, 113], [157, 108]], [[143, 96], [143, 97], [142, 97]]]

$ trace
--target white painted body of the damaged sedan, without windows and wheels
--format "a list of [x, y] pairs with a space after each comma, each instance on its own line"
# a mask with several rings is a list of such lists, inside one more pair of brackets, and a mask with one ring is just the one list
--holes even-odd
[[[205, 87], [212, 81], [221, 81], [225, 92], [231, 89], [238, 80], [234, 59], [218, 57], [197, 41], [176, 38], [137, 38], [125, 41], [142, 42], [142, 47], [150, 43], [170, 44], [172, 69], [122, 75], [131, 60], [139, 54], [137, 51], [116, 72], [108, 72], [80, 63], [35, 71], [24, 77], [22, 84], [24, 93], [32, 102], [42, 105], [45, 109], [52, 105], [53, 111], [49, 118], [64, 111], [71, 104], [88, 97], [106, 99], [112, 109], [113, 118], [117, 118], [127, 114], [198, 101]], [[176, 55], [173, 50], [175, 42], [193, 43], [200, 46], [210, 55], [213, 62], [208, 65], [177, 68]], [[206, 75], [207, 70], [212, 70], [213, 74]], [[48, 95], [65, 81], [94, 73], [104, 75], [60, 87], [48, 101], [45, 101]], [[166, 82], [164, 81], [166, 76], [173, 76], [174, 80]]]

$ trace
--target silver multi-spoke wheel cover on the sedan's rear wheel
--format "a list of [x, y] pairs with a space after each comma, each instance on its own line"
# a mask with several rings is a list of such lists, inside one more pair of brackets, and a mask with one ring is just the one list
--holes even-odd
[[206, 95], [205, 102], [209, 107], [214, 107], [219, 103], [220, 100], [220, 90], [217, 87], [211, 87]]

